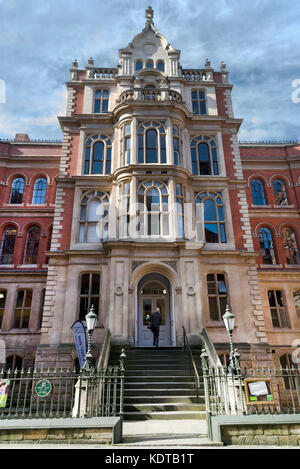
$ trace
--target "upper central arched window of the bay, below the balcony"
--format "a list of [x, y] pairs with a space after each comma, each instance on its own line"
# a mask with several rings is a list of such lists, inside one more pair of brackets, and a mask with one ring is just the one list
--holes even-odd
[[160, 122], [145, 122], [138, 129], [138, 162], [167, 162], [166, 131]]

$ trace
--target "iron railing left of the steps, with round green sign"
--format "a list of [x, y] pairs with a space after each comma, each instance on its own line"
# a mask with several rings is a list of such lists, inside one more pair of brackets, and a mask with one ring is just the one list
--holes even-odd
[[123, 418], [124, 365], [75, 370], [0, 372], [0, 419]]

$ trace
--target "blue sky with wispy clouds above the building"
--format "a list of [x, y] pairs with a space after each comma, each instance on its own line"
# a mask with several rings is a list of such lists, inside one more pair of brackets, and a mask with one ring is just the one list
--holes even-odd
[[149, 4], [183, 68], [226, 63], [241, 141], [300, 141], [299, 0], [0, 0], [0, 139], [60, 140], [72, 61], [115, 67]]

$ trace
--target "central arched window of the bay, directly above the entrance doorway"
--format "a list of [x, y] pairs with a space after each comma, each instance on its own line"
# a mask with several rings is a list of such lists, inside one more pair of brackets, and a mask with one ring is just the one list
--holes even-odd
[[168, 188], [161, 181], [143, 182], [138, 189], [138, 235], [168, 236]]

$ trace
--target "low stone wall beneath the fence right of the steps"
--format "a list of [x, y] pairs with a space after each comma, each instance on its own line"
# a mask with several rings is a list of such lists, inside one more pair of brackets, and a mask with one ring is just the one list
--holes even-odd
[[283, 425], [224, 425], [226, 445], [300, 446], [300, 423]]

